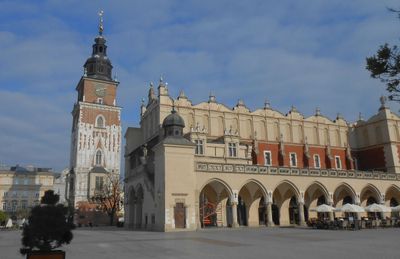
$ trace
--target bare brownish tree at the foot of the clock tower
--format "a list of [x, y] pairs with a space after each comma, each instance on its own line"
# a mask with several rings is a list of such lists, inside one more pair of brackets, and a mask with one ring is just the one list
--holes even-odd
[[101, 191], [95, 192], [91, 198], [98, 210], [110, 217], [110, 226], [114, 223], [116, 213], [121, 209], [123, 197], [118, 175], [109, 175]]

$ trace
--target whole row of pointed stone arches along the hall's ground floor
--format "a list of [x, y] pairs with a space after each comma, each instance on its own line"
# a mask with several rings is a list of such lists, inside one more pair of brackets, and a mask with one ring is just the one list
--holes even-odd
[[[199, 220], [201, 227], [304, 225], [309, 218], [318, 217], [310, 209], [321, 204], [340, 208], [346, 203], [397, 206], [399, 202], [400, 188], [390, 183], [381, 189], [370, 183], [354, 188], [345, 182], [327, 188], [312, 181], [302, 191], [288, 180], [280, 181], [271, 189], [259, 181], [248, 180], [235, 190], [226, 181], [214, 178], [200, 191]], [[329, 215], [332, 219], [334, 216], [344, 215]], [[360, 213], [361, 216], [366, 215]]]

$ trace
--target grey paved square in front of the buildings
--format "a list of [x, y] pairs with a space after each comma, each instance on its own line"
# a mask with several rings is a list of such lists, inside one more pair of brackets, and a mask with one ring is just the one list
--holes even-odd
[[[400, 258], [400, 229], [206, 229], [158, 233], [117, 228], [74, 230], [67, 259], [123, 258]], [[0, 230], [0, 259], [19, 254], [21, 231]]]

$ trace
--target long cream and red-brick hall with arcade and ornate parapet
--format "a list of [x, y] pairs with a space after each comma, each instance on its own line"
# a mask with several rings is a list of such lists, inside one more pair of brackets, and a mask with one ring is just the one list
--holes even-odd
[[373, 117], [348, 124], [215, 96], [194, 105], [162, 80], [157, 90], [125, 134], [127, 228], [303, 225], [323, 203], [400, 202], [400, 117], [383, 97]]

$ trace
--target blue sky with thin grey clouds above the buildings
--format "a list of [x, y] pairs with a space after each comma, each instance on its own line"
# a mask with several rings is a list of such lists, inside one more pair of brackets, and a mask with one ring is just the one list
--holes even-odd
[[[150, 81], [170, 93], [283, 113], [320, 107], [348, 122], [373, 115], [382, 83], [365, 70], [398, 44], [398, 1], [0, 1], [0, 163], [68, 166], [75, 86], [97, 34], [121, 82], [124, 131], [139, 123]], [[391, 104], [397, 111], [398, 105]]]

